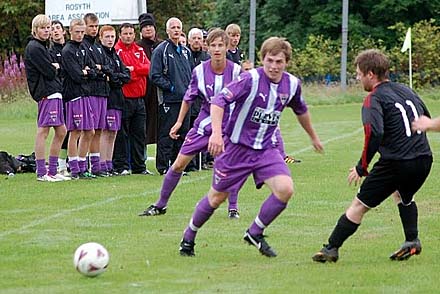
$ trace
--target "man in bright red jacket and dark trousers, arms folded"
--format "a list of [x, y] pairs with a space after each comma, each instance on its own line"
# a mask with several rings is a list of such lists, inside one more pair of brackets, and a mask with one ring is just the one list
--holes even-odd
[[144, 49], [135, 42], [134, 26], [124, 23], [119, 30], [115, 50], [130, 70], [130, 82], [122, 87], [125, 103], [122, 127], [118, 132], [113, 155], [113, 168], [120, 175], [151, 174], [145, 166], [145, 121], [143, 97], [147, 89], [150, 61]]

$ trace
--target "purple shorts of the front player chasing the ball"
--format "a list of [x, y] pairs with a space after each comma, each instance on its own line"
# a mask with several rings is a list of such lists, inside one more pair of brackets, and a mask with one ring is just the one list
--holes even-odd
[[257, 188], [274, 176], [291, 176], [277, 148], [254, 150], [225, 137], [225, 151], [214, 161], [212, 187], [219, 192], [239, 191], [250, 174]]

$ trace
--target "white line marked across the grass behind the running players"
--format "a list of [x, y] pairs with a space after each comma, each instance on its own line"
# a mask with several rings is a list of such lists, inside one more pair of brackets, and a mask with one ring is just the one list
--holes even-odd
[[[340, 139], [345, 139], [345, 138], [351, 137], [353, 135], [358, 134], [362, 130], [363, 130], [363, 128], [359, 128], [359, 129], [355, 130], [354, 132], [330, 138], [328, 140], [323, 141], [322, 144], [325, 145], [325, 144], [328, 144], [328, 143], [333, 142], [333, 141], [337, 141], [337, 140], [340, 140]], [[313, 148], [312, 146], [308, 146], [308, 147], [299, 149], [297, 151], [294, 151], [291, 154], [303, 153], [305, 151], [311, 150], [312, 148]], [[188, 184], [188, 183], [192, 183], [192, 182], [195, 182], [195, 181], [200, 181], [200, 180], [206, 179], [208, 177], [211, 177], [211, 175], [197, 177], [197, 178], [191, 178], [190, 180], [183, 181], [182, 184]], [[76, 208], [72, 208], [72, 209], [65, 209], [65, 210], [63, 210], [61, 212], [52, 214], [52, 215], [50, 215], [48, 217], [41, 218], [39, 220], [30, 222], [29, 224], [24, 225], [21, 228], [13, 229], [13, 230], [5, 231], [5, 232], [1, 232], [0, 233], [0, 239], [4, 238], [6, 236], [9, 236], [11, 234], [24, 232], [25, 230], [27, 230], [29, 228], [36, 227], [36, 226], [44, 224], [44, 223], [46, 223], [46, 222], [48, 222], [48, 221], [50, 221], [52, 219], [63, 217], [63, 216], [66, 216], [68, 214], [71, 214], [71, 213], [74, 213], [74, 212], [77, 212], [77, 211], [81, 211], [81, 210], [84, 210], [84, 209], [88, 209], [88, 208], [96, 207], [96, 206], [100, 206], [100, 205], [105, 205], [105, 204], [108, 204], [108, 203], [111, 203], [111, 202], [119, 201], [119, 200], [124, 199], [124, 198], [136, 198], [136, 197], [147, 196], [147, 195], [151, 195], [151, 194], [157, 194], [159, 192], [160, 192], [160, 190], [156, 189], [156, 190], [153, 190], [153, 191], [148, 191], [148, 192], [144, 192], [144, 193], [140, 193], [140, 194], [135, 194], [135, 195], [122, 195], [122, 196], [107, 198], [107, 199], [102, 200], [102, 201], [98, 201], [98, 202], [82, 205], [82, 206], [79, 206], [79, 207], [76, 207]]]

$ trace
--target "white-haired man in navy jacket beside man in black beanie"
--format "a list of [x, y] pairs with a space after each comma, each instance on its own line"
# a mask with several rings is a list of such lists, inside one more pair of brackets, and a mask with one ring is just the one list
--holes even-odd
[[189, 130], [189, 116], [185, 118], [178, 139], [169, 136], [177, 120], [183, 96], [191, 80], [191, 52], [179, 45], [182, 22], [172, 17], [166, 23], [168, 39], [153, 51], [150, 78], [158, 87], [159, 134], [156, 169], [163, 175], [174, 162]]

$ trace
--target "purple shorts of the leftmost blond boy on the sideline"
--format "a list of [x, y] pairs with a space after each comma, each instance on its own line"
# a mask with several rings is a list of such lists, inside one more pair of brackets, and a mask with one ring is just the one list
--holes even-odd
[[63, 100], [61, 98], [43, 99], [38, 102], [39, 128], [64, 125]]

